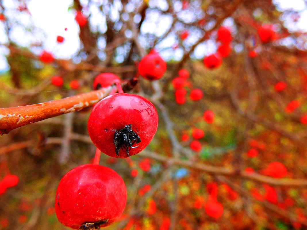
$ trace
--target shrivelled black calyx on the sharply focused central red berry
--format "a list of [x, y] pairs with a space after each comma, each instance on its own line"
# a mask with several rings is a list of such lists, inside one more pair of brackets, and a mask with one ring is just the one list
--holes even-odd
[[126, 153], [129, 155], [129, 151], [131, 148], [137, 148], [138, 146], [132, 147], [134, 143], [138, 144], [141, 142], [140, 137], [138, 134], [136, 134], [132, 129], [131, 129], [131, 124], [125, 125], [125, 128], [122, 128], [118, 132], [115, 131], [114, 134], [114, 145], [115, 145], [115, 152], [116, 155], [118, 156], [120, 148], [122, 150], [126, 151]]

